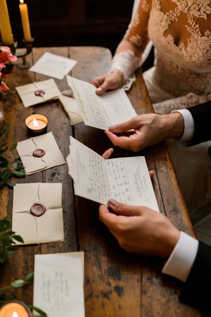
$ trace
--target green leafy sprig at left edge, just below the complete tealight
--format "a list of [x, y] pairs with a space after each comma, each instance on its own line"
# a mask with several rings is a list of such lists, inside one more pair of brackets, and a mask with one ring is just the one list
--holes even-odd
[[11, 152], [16, 149], [17, 143], [10, 146], [8, 150], [8, 145], [4, 142], [8, 134], [8, 128], [9, 124], [6, 125], [3, 132], [0, 133], [0, 188], [3, 188], [5, 185], [14, 187], [16, 184], [8, 181], [8, 179], [14, 175], [18, 177], [26, 176], [22, 171], [24, 166], [19, 160], [13, 163], [11, 162]]

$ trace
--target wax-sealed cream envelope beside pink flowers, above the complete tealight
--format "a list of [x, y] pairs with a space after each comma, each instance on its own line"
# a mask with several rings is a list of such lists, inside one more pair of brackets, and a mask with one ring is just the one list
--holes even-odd
[[[16, 87], [25, 108], [58, 97], [61, 92], [53, 78], [32, 84]], [[36, 90], [43, 90], [45, 94], [36, 96]]]

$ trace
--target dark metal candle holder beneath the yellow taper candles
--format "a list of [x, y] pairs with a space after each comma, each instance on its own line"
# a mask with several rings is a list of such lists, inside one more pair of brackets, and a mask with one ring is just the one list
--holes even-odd
[[21, 69], [27, 69], [30, 67], [30, 64], [28, 62], [26, 62], [26, 56], [31, 53], [32, 47], [33, 47], [32, 46], [33, 42], [34, 42], [33, 37], [31, 38], [31, 41], [29, 41], [29, 42], [23, 40], [23, 43], [25, 44], [25, 49], [22, 49], [21, 51], [16, 52], [16, 49], [18, 47], [18, 41], [16, 39], [14, 39], [14, 43], [10, 44], [10, 45], [3, 44], [2, 39], [0, 39], [1, 46], [4, 46], [4, 45], [8, 46], [13, 55], [16, 55], [17, 58], [22, 57], [22, 63], [21, 62], [16, 63], [16, 66], [18, 68], [21, 68]]

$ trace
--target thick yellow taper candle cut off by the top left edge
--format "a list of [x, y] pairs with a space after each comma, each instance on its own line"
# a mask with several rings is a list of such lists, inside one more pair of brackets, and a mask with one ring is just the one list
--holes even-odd
[[13, 44], [12, 30], [6, 0], [0, 0], [0, 30], [3, 45]]

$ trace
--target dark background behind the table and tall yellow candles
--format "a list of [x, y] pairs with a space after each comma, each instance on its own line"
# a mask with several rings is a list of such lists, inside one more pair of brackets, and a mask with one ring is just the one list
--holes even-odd
[[[114, 53], [131, 19], [133, 0], [25, 0], [34, 46], [95, 45]], [[19, 0], [7, 0], [14, 37], [22, 46]]]

